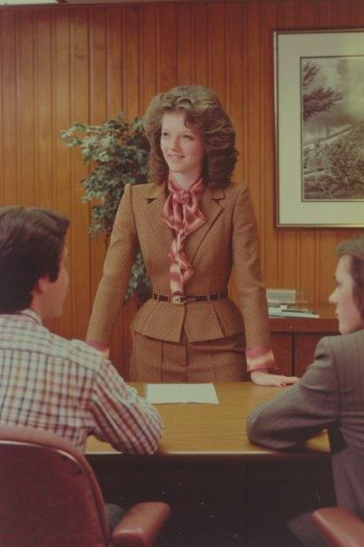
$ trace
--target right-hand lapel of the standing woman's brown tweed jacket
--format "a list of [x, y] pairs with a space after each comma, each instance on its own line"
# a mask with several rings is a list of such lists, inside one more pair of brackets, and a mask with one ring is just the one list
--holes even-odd
[[207, 222], [186, 238], [186, 255], [191, 263], [193, 263], [194, 257], [196, 256], [203, 239], [206, 237], [206, 234], [208, 234], [212, 228], [218, 215], [223, 211], [223, 208], [218, 204], [218, 200], [224, 198], [224, 189], [213, 189], [208, 186], [203, 192], [200, 208], [203, 215], [207, 218]]

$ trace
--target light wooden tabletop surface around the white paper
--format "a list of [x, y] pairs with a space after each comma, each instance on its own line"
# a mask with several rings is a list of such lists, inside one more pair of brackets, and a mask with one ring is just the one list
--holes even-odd
[[[142, 383], [131, 383], [144, 395]], [[257, 404], [288, 388], [256, 386], [250, 382], [215, 384], [218, 405], [163, 404], [156, 405], [162, 414], [164, 434], [154, 458], [306, 458], [328, 453], [325, 433], [311, 439], [305, 448], [295, 453], [282, 453], [253, 445], [245, 431], [249, 412]], [[89, 438], [87, 454], [117, 454], [114, 448], [96, 438]]]

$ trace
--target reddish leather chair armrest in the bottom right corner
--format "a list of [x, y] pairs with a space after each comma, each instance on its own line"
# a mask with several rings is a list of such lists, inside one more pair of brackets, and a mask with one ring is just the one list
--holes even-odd
[[332, 547], [363, 547], [364, 522], [341, 507], [325, 507], [312, 514], [313, 525]]

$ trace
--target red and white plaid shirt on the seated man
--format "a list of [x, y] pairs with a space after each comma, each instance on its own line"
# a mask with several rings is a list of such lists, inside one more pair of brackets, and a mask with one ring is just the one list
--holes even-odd
[[88, 435], [117, 450], [152, 454], [157, 410], [99, 351], [42, 325], [36, 312], [0, 315], [0, 424], [51, 430], [84, 448]]

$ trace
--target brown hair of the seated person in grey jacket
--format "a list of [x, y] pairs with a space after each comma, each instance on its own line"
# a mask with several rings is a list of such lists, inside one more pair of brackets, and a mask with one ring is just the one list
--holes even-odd
[[354, 282], [352, 297], [364, 318], [364, 236], [348, 239], [337, 245], [338, 258], [351, 257], [350, 273]]

